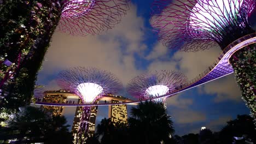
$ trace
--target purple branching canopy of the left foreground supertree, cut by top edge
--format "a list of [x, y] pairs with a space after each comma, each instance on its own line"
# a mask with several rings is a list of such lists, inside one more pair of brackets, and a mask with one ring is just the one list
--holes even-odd
[[66, 0], [57, 31], [86, 36], [113, 28], [130, 9], [130, 0]]

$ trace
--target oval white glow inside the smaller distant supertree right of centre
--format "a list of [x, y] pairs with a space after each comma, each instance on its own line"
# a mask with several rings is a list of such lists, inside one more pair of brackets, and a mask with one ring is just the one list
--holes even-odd
[[148, 95], [149, 97], [150, 95], [152, 95], [152, 97], [158, 97], [160, 95], [166, 94], [168, 91], [169, 88], [167, 86], [155, 85], [146, 89], [146, 95]]

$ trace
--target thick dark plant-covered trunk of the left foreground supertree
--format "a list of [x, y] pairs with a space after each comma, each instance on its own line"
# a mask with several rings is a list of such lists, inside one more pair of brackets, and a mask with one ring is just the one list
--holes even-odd
[[[4, 1], [0, 7], [2, 104], [17, 109], [30, 103], [38, 70], [61, 16], [59, 0]], [[8, 73], [10, 72], [10, 73]], [[11, 75], [11, 79], [3, 77]], [[3, 81], [2, 81], [3, 80]]]

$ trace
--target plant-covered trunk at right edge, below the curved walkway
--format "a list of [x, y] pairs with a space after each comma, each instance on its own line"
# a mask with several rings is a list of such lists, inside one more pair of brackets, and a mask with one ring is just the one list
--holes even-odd
[[251, 111], [256, 125], [256, 45], [252, 44], [237, 51], [230, 58], [230, 63], [240, 86], [242, 99]]

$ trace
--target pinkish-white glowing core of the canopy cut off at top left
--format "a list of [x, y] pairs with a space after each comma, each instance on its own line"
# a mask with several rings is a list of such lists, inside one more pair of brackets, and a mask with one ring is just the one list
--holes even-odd
[[80, 17], [88, 13], [94, 7], [95, 0], [69, 0], [62, 9], [63, 17]]

